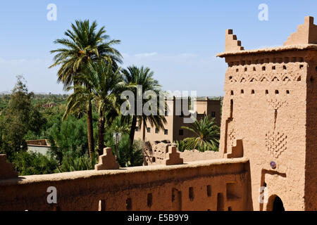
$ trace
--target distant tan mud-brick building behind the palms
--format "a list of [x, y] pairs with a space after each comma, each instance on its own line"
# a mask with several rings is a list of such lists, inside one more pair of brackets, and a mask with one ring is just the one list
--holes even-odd
[[[164, 125], [164, 130], [156, 129], [156, 127], [151, 127], [150, 124], [147, 124], [148, 127], [143, 126], [143, 124], [137, 123], [139, 127], [135, 130], [135, 140], [141, 139], [144, 141], [163, 141], [168, 140], [170, 142], [180, 141], [187, 137], [193, 136], [191, 131], [182, 129], [182, 126], [189, 127], [190, 123], [185, 123], [184, 118], [189, 117], [180, 113], [182, 109], [182, 104], [188, 103], [188, 98], [181, 100], [181, 98], [167, 98], [166, 104], [168, 105], [168, 110], [165, 112], [166, 124]], [[179, 104], [180, 108], [176, 108]], [[197, 120], [208, 115], [211, 118], [214, 118], [216, 124], [220, 126], [221, 120], [221, 101], [211, 98], [197, 98], [194, 100], [194, 104], [197, 110]], [[179, 113], [177, 113], [179, 112]]]

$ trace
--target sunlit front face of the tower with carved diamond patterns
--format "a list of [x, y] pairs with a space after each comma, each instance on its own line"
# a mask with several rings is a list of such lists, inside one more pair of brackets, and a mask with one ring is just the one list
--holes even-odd
[[[242, 139], [250, 159], [254, 210], [259, 188], [278, 195], [285, 210], [304, 210], [306, 80], [309, 51], [228, 56], [220, 151]], [[275, 161], [277, 169], [271, 169]], [[265, 183], [265, 184], [264, 184]]]

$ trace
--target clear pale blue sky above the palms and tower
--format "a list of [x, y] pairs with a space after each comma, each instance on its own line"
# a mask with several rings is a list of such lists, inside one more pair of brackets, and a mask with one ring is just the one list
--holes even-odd
[[[51, 3], [57, 6], [56, 21], [46, 19]], [[268, 5], [268, 21], [258, 19], [262, 3]], [[306, 15], [317, 20], [316, 0], [1, 1], [0, 92], [11, 91], [22, 74], [30, 91], [63, 93], [57, 68], [48, 69], [49, 51], [70, 23], [89, 18], [122, 41], [117, 49], [123, 67], [151, 68], [166, 91], [220, 96], [226, 65], [215, 55], [224, 50], [226, 29], [233, 29], [244, 49], [281, 46]]]

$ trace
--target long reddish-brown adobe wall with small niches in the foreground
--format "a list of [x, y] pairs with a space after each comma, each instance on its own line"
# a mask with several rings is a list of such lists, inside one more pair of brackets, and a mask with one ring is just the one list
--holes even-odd
[[0, 210], [249, 210], [247, 169], [241, 158], [19, 176], [0, 180]]

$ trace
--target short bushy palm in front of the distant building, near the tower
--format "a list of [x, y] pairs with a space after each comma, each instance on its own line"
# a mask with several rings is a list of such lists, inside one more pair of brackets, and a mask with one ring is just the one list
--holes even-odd
[[214, 118], [205, 116], [196, 120], [190, 127], [182, 126], [194, 133], [194, 137], [184, 139], [185, 148], [197, 150], [217, 150], [219, 146], [220, 129], [215, 124]]

